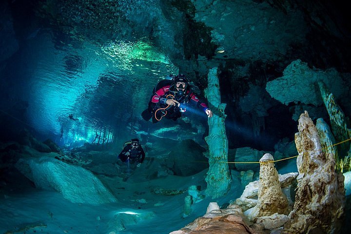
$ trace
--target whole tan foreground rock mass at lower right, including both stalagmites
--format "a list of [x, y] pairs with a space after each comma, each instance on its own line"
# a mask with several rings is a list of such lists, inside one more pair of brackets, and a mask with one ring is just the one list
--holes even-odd
[[[299, 118], [299, 132], [295, 134], [298, 176], [297, 173], [278, 176], [273, 156], [265, 154], [260, 159], [259, 181], [249, 183], [235, 203], [227, 209], [210, 204], [206, 215], [172, 234], [199, 230], [201, 233], [243, 234], [264, 230], [279, 234], [338, 233], [345, 213], [344, 176], [335, 171], [335, 150], [328, 126], [322, 119], [317, 125], [318, 129], [307, 112]], [[293, 188], [296, 176], [293, 210], [287, 215], [292, 199], [287, 199], [281, 188]], [[237, 230], [237, 224], [246, 225], [246, 218], [255, 222], [251, 229]]]

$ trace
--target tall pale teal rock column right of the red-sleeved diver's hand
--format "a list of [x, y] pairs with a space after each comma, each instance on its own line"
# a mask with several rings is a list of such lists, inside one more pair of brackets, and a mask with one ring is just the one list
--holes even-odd
[[210, 168], [206, 176], [206, 195], [217, 198], [226, 195], [230, 189], [230, 175], [228, 167], [228, 140], [224, 125], [226, 115], [225, 103], [221, 103], [217, 68], [212, 68], [208, 74], [208, 87], [205, 96], [213, 117], [208, 119], [209, 136], [205, 138], [209, 146]]

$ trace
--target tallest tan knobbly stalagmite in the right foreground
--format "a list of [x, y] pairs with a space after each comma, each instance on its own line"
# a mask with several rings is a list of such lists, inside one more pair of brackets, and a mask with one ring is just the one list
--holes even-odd
[[297, 192], [284, 234], [337, 233], [344, 215], [344, 177], [336, 173], [333, 156], [325, 156], [317, 128], [305, 112], [295, 134]]

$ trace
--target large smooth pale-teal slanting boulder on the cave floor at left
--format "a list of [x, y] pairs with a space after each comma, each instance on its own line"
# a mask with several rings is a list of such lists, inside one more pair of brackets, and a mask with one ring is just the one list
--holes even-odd
[[117, 201], [93, 173], [55, 158], [21, 158], [16, 167], [38, 188], [56, 190], [71, 202], [102, 204]]

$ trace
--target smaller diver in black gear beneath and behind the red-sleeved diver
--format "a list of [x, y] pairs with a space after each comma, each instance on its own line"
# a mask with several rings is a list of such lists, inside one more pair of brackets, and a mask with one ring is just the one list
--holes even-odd
[[[124, 147], [126, 144], [127, 146]], [[140, 167], [144, 161], [145, 152], [139, 144], [139, 139], [131, 139], [131, 141], [127, 141], [124, 145], [122, 152], [118, 155], [119, 159], [122, 162], [128, 162], [128, 166], [137, 163], [137, 167]]]

